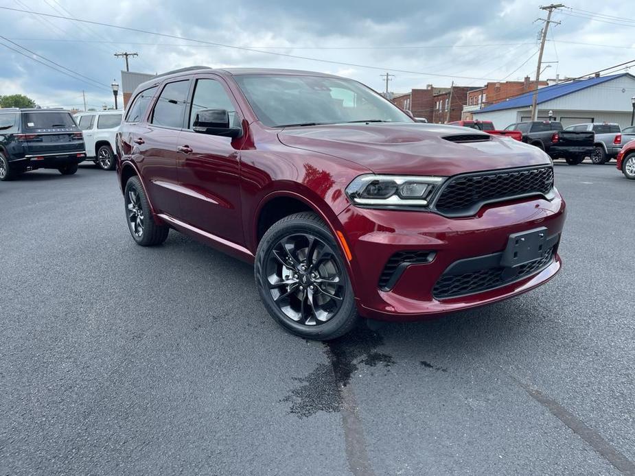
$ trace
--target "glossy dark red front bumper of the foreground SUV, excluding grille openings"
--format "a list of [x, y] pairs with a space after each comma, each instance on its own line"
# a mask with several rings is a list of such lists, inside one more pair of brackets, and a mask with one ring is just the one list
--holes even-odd
[[[461, 219], [349, 206], [339, 217], [351, 249], [349, 266], [358, 311], [380, 320], [425, 320], [510, 298], [549, 281], [562, 265], [557, 240], [553, 260], [533, 274], [463, 296], [437, 299], [433, 295], [450, 265], [503, 252], [512, 233], [546, 227], [549, 237], [559, 237], [566, 205], [557, 191], [555, 195], [551, 201], [535, 198], [485, 206], [474, 217]], [[434, 254], [429, 262], [408, 265], [391, 289], [380, 288], [386, 263], [404, 251]]]

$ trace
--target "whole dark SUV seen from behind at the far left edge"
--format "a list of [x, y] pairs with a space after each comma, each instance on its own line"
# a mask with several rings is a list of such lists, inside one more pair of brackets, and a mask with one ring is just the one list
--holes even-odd
[[75, 174], [86, 159], [84, 136], [62, 109], [0, 109], [0, 180], [27, 170]]

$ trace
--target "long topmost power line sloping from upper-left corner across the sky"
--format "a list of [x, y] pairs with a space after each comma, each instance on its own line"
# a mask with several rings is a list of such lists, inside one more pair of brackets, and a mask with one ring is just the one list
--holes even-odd
[[[13, 12], [26, 13], [26, 10], [21, 10], [19, 8], [0, 7], [0, 9], [1, 10], [10, 10], [10, 11], [13, 11]], [[172, 35], [172, 34], [168, 34], [168, 33], [150, 32], [150, 31], [145, 30], [145, 29], [132, 28], [132, 27], [123, 27], [123, 26], [112, 25], [110, 23], [103, 23], [103, 22], [99, 22], [99, 21], [72, 19], [72, 18], [69, 18], [67, 16], [54, 15], [54, 14], [42, 13], [42, 12], [32, 12], [32, 13], [36, 14], [36, 15], [41, 15], [41, 16], [48, 16], [48, 17], [51, 17], [51, 18], [65, 19], [65, 20], [68, 20], [68, 21], [78, 21], [78, 22], [82, 22], [82, 23], [89, 23], [91, 25], [100, 25], [100, 26], [124, 29], [124, 30], [129, 31], [129, 32], [150, 34], [150, 35], [154, 35], [154, 36], [162, 36], [164, 38], [174, 38], [174, 39], [178, 39], [178, 40], [192, 41], [194, 43], [204, 43], [206, 45], [214, 45], [214, 46], [223, 47], [223, 48], [229, 48], [229, 49], [238, 49], [238, 50], [241, 50], [241, 51], [251, 51], [253, 53], [263, 53], [263, 54], [268, 54], [268, 55], [273, 55], [273, 56], [282, 56], [284, 58], [294, 58], [294, 59], [298, 59], [298, 60], [316, 61], [316, 62], [323, 62], [323, 63], [327, 63], [327, 64], [340, 64], [340, 65], [343, 65], [343, 66], [356, 67], [356, 68], [379, 69], [379, 70], [383, 70], [383, 71], [391, 70], [391, 71], [395, 71], [396, 73], [409, 73], [409, 74], [417, 74], [417, 75], [424, 75], [424, 76], [437, 76], [437, 77], [441, 77], [441, 78], [461, 78], [461, 79], [465, 79], [465, 80], [496, 80], [495, 78], [474, 78], [473, 76], [457, 76], [457, 75], [440, 74], [440, 73], [425, 73], [425, 72], [422, 72], [422, 71], [408, 71], [408, 70], [404, 70], [404, 69], [395, 69], [395, 68], [389, 68], [389, 67], [384, 67], [384, 66], [371, 66], [371, 65], [368, 65], [368, 64], [349, 63], [349, 62], [334, 61], [334, 60], [323, 60], [321, 58], [311, 58], [309, 56], [298, 56], [298, 55], [292, 55], [292, 54], [288, 54], [288, 53], [279, 53], [279, 52], [276, 52], [276, 51], [264, 51], [262, 49], [240, 47], [240, 46], [236, 46], [236, 45], [225, 45], [224, 43], [215, 43], [215, 42], [211, 42], [211, 41], [198, 40], [198, 39], [193, 39], [193, 38], [185, 38], [183, 36]]]

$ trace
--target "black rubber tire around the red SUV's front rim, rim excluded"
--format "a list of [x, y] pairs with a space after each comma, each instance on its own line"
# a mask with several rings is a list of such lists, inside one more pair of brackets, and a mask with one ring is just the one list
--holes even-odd
[[[288, 235], [294, 235], [295, 233], [308, 233], [327, 243], [332, 250], [336, 252], [337, 264], [340, 269], [343, 270], [343, 276], [345, 279], [344, 302], [342, 302], [342, 306], [336, 315], [324, 324], [305, 326], [304, 324], [299, 324], [288, 318], [286, 314], [275, 304], [268, 289], [266, 272], [263, 271], [266, 269], [268, 254], [279, 240]], [[295, 219], [287, 222], [282, 220], [269, 228], [260, 241], [256, 252], [254, 274], [260, 298], [270, 316], [272, 316], [272, 318], [281, 324], [281, 326], [283, 326], [286, 330], [295, 335], [317, 340], [327, 340], [333, 337], [338, 337], [338, 335], [341, 335], [341, 329], [349, 325], [351, 313], [356, 313], [353, 287], [351, 286], [347, 267], [340, 254], [339, 247], [326, 226], [320, 226], [312, 220]]]

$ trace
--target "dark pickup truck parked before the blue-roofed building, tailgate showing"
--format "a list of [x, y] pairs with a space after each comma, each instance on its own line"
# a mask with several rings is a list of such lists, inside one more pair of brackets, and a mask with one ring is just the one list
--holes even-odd
[[594, 132], [563, 130], [556, 121], [519, 122], [505, 130], [520, 130], [523, 142], [544, 150], [551, 158], [564, 158], [569, 165], [578, 165], [593, 153]]

